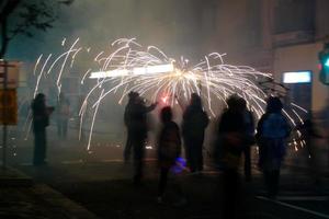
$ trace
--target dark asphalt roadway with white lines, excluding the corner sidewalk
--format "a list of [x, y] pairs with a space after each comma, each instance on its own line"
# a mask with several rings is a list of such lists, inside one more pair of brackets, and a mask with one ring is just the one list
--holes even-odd
[[[140, 187], [133, 185], [133, 166], [116, 160], [18, 168], [100, 218], [220, 218], [220, 173], [206, 170], [200, 175], [183, 174], [180, 182], [188, 203], [175, 207], [175, 196], [170, 186], [164, 204], [156, 201], [156, 163], [149, 160], [146, 166]], [[327, 180], [314, 184], [305, 173], [295, 174], [292, 178], [287, 172], [285, 169], [282, 173], [280, 196], [272, 200], [265, 198], [261, 175], [254, 170], [253, 181], [242, 182], [240, 218], [329, 218]]]

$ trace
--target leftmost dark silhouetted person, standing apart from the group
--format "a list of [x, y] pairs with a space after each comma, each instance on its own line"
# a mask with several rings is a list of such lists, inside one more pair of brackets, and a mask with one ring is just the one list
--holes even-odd
[[46, 127], [49, 125], [49, 115], [54, 107], [46, 106], [46, 96], [38, 93], [32, 102], [34, 153], [33, 164], [43, 165], [46, 159]]

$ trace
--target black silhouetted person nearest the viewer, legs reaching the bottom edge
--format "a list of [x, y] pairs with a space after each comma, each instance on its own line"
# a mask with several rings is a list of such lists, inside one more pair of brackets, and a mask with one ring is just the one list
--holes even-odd
[[224, 171], [224, 218], [236, 218], [240, 189], [238, 169], [246, 145], [246, 125], [239, 99], [237, 95], [228, 97], [228, 108], [222, 114], [217, 130], [219, 142], [216, 147], [220, 147]]

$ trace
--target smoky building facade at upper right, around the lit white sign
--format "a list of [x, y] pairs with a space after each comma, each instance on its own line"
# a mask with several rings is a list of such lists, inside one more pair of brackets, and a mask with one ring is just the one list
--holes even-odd
[[[328, 105], [319, 82], [318, 53], [329, 41], [327, 0], [208, 0], [203, 5], [203, 53], [228, 54], [227, 61], [250, 65], [282, 82], [287, 71], [310, 71], [310, 108]], [[297, 96], [298, 96], [297, 95]]]

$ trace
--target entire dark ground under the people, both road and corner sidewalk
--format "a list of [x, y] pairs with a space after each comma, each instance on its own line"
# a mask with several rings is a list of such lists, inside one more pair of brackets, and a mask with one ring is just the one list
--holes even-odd
[[[133, 164], [122, 161], [120, 141], [100, 140], [87, 151], [86, 141], [71, 137], [61, 140], [48, 135], [48, 164], [39, 168], [31, 164], [32, 145], [31, 139], [21, 140], [9, 148], [9, 165], [19, 170], [12, 171], [15, 173], [11, 172], [9, 178], [26, 176], [30, 183], [20, 181], [15, 186], [11, 183], [1, 186], [1, 206], [4, 207], [0, 216], [5, 217], [0, 218], [220, 218], [223, 176], [214, 171], [211, 159], [206, 159], [202, 174], [181, 174], [179, 182], [188, 203], [177, 207], [170, 183], [163, 204], [156, 200], [155, 149], [147, 150], [144, 184], [136, 187], [132, 182]], [[321, 161], [313, 168], [303, 150], [290, 151], [276, 200], [265, 197], [261, 173], [253, 163], [252, 182], [241, 178], [239, 218], [329, 218], [329, 177], [325, 161], [328, 150], [319, 151]], [[304, 160], [299, 159], [302, 155]], [[18, 177], [20, 173], [24, 173], [24, 177]], [[10, 181], [2, 177], [1, 182]]]

